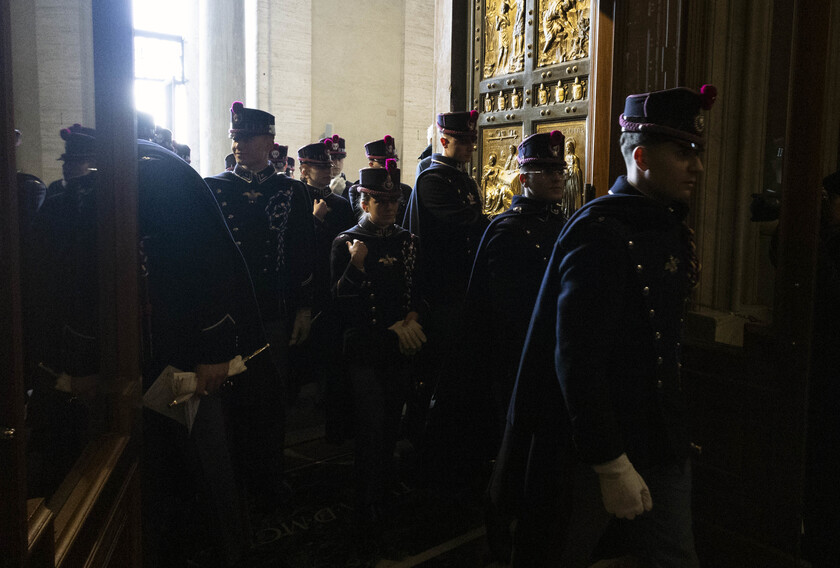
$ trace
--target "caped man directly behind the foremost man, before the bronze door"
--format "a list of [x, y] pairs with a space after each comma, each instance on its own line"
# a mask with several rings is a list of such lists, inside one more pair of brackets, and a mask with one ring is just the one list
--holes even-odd
[[[554, 241], [566, 222], [563, 133], [532, 134], [519, 145], [522, 194], [487, 227], [478, 246], [468, 291], [469, 328], [485, 330], [471, 349], [472, 376], [489, 384], [498, 434], [495, 457], [507, 423], [507, 408], [519, 356]], [[485, 417], [485, 419], [490, 416]]]

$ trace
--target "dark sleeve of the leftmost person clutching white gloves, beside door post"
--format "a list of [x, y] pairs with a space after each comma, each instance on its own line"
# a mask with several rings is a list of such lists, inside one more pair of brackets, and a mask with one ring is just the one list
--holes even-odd
[[181, 368], [262, 343], [245, 261], [207, 184], [187, 168], [155, 159], [138, 177], [152, 340], [163, 363]]

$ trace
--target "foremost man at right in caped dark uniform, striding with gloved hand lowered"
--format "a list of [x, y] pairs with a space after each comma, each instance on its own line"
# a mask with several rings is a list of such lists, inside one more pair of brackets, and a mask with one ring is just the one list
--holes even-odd
[[514, 566], [589, 566], [610, 525], [611, 553], [698, 566], [680, 341], [699, 277], [685, 217], [715, 96], [629, 96], [627, 175], [554, 247], [491, 484], [497, 506], [517, 506]]

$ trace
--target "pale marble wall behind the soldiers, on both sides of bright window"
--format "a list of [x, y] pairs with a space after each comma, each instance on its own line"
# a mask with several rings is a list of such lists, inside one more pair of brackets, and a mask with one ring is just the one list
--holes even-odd
[[[364, 144], [390, 134], [413, 184], [434, 117], [435, 0], [187, 1], [189, 116], [175, 121], [174, 137], [191, 146], [202, 175], [222, 169], [230, 104], [242, 100], [277, 117], [276, 139], [290, 155], [340, 134], [353, 180], [367, 166]], [[11, 7], [15, 118], [24, 132], [18, 167], [49, 182], [61, 177], [59, 130], [95, 125], [90, 0]]]

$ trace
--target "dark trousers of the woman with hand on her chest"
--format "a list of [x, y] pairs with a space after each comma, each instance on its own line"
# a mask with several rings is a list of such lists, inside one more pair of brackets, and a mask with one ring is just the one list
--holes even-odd
[[356, 408], [356, 503], [369, 507], [381, 503], [392, 474], [407, 381], [401, 367], [351, 364], [349, 372]]

